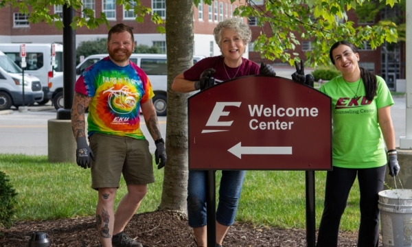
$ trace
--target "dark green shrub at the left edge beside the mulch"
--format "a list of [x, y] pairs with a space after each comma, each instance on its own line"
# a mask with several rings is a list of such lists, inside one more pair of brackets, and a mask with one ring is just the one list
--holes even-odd
[[12, 217], [16, 211], [16, 190], [10, 184], [10, 179], [0, 171], [0, 226], [12, 227]]

